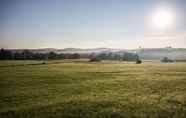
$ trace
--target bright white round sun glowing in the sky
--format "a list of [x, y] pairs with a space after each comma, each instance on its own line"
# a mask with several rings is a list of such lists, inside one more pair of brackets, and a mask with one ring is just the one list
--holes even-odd
[[174, 15], [172, 11], [166, 9], [158, 9], [152, 16], [152, 22], [157, 28], [169, 28], [173, 24]]

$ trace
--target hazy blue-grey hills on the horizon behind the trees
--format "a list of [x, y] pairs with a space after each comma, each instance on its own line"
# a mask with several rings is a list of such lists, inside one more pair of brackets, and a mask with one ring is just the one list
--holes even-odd
[[[9, 49], [13, 52], [21, 52], [24, 49]], [[139, 49], [113, 49], [113, 48], [42, 48], [42, 49], [28, 49], [33, 53], [80, 53], [80, 54], [91, 54], [91, 53], [118, 53], [123, 54], [124, 52], [136, 53], [141, 59], [162, 59], [168, 57], [170, 59], [186, 59], [186, 48], [139, 48]]]

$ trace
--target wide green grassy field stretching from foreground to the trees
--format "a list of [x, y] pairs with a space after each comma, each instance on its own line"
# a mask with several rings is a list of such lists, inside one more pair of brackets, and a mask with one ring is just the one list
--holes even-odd
[[186, 63], [30, 63], [0, 61], [0, 118], [186, 117]]

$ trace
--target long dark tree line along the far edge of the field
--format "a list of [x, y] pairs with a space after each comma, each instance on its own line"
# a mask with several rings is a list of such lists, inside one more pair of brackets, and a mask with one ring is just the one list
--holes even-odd
[[102, 52], [91, 54], [79, 54], [79, 53], [33, 53], [29, 50], [23, 51], [11, 51], [0, 50], [0, 60], [57, 60], [57, 59], [80, 59], [89, 58], [92, 61], [100, 60], [120, 60], [120, 61], [137, 61], [139, 56], [135, 53], [123, 52]]

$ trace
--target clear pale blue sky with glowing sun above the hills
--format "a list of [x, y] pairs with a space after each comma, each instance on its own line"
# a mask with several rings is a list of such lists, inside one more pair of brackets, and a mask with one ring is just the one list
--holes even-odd
[[0, 0], [0, 48], [186, 48], [186, 0]]

